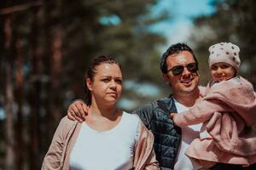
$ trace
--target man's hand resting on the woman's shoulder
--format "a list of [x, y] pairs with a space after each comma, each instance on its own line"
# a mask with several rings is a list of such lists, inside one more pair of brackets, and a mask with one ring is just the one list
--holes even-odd
[[81, 100], [74, 101], [67, 109], [67, 117], [73, 121], [77, 120], [79, 122], [84, 122], [85, 116], [87, 115], [88, 106]]

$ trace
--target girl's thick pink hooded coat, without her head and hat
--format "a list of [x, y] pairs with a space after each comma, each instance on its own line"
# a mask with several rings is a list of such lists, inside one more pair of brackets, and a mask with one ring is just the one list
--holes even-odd
[[[175, 116], [177, 126], [203, 122], [201, 139], [195, 139], [186, 155], [203, 161], [248, 166], [256, 162], [256, 94], [242, 77], [218, 82], [189, 111]], [[207, 162], [206, 162], [207, 163]]]

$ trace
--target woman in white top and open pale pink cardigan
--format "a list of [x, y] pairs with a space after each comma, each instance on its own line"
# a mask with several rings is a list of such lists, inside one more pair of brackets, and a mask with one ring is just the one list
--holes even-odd
[[89, 114], [82, 123], [61, 120], [42, 169], [160, 169], [152, 133], [138, 116], [116, 108], [122, 81], [114, 59], [91, 63], [84, 81]]

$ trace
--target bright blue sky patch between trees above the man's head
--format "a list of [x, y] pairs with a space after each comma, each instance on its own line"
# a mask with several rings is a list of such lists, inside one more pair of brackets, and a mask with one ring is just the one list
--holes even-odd
[[151, 8], [152, 14], [166, 11], [169, 18], [152, 27], [152, 31], [166, 35], [169, 43], [186, 42], [190, 35], [193, 19], [215, 12], [212, 0], [162, 0]]

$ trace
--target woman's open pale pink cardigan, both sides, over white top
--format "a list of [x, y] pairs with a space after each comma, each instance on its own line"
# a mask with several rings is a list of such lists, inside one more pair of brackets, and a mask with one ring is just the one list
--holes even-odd
[[[70, 169], [69, 156], [79, 136], [80, 127], [81, 123], [70, 121], [67, 116], [62, 118], [55, 131], [49, 150], [44, 156], [42, 170]], [[153, 143], [153, 134], [141, 122], [141, 133], [136, 145], [133, 162], [135, 170], [160, 169], [158, 161], [155, 159]]]

